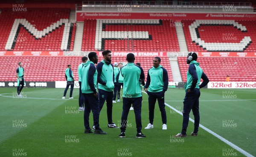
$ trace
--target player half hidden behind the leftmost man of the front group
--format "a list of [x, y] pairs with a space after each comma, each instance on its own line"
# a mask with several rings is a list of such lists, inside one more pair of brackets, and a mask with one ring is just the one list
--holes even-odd
[[77, 68], [77, 72], [78, 72], [78, 83], [79, 83], [79, 111], [84, 111], [84, 96], [82, 95], [82, 91], [81, 91], [81, 79], [82, 79], [82, 67], [84, 66], [84, 63], [87, 62], [88, 58], [86, 56], [82, 57], [82, 62], [81, 64], [79, 64], [78, 68]]

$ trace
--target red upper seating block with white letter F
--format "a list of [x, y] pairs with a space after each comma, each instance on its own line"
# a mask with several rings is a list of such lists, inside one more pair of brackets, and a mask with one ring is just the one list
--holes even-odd
[[81, 50], [177, 50], [179, 46], [176, 30], [175, 27], [170, 27], [170, 22], [172, 21], [84, 20], [84, 34]]

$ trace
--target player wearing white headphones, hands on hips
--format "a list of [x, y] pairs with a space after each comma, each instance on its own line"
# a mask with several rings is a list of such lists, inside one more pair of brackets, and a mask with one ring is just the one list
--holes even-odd
[[[190, 52], [187, 56], [187, 64], [189, 64], [189, 69], [187, 72], [187, 83], [184, 88], [186, 91], [185, 98], [183, 100], [183, 124], [181, 133], [177, 134], [176, 137], [186, 137], [186, 129], [189, 124], [189, 113], [192, 109], [195, 124], [194, 131], [191, 133], [192, 136], [198, 135], [198, 127], [200, 122], [199, 115], [199, 97], [200, 97], [200, 88], [206, 86], [209, 82], [209, 79], [203, 72], [202, 68], [199, 67], [199, 63], [196, 62], [198, 56], [195, 52]], [[203, 79], [201, 85], [200, 80]]]

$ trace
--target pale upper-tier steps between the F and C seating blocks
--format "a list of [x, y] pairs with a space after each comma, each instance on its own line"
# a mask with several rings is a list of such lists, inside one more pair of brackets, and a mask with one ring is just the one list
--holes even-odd
[[175, 28], [176, 28], [176, 32], [177, 32], [177, 38], [178, 38], [178, 42], [179, 42], [180, 52], [188, 53], [188, 48], [186, 45], [186, 39], [185, 39], [185, 34], [183, 31], [182, 23], [177, 22], [175, 25]]

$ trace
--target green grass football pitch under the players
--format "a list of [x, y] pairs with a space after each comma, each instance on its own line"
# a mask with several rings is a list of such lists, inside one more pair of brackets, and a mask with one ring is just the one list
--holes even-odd
[[[255, 89], [201, 89], [201, 127], [197, 137], [190, 136], [194, 123], [189, 121], [185, 138], [174, 137], [181, 132], [184, 89], [169, 88], [165, 94], [167, 130], [162, 130], [157, 103], [154, 129], [144, 129], [149, 121], [148, 99], [143, 93], [145, 138], [135, 138], [133, 110], [128, 115], [125, 138], [119, 138], [120, 129], [107, 126], [106, 104], [99, 123], [108, 135], [84, 134], [84, 112], [78, 111], [79, 89], [74, 89], [74, 99], [61, 99], [63, 92], [56, 88], [24, 88], [24, 98], [16, 98], [16, 88], [0, 88], [0, 157], [256, 156]], [[117, 126], [121, 115], [122, 98], [113, 104]], [[194, 119], [192, 112], [190, 118]]]

